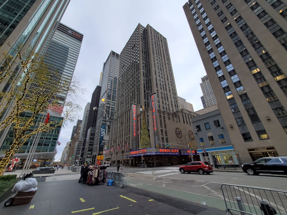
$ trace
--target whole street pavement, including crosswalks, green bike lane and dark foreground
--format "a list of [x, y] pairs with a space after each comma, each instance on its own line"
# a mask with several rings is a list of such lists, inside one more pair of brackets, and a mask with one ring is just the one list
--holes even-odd
[[[116, 167], [107, 168], [117, 171]], [[3, 214], [226, 214], [222, 183], [284, 190], [287, 176], [251, 176], [241, 169], [215, 170], [210, 175], [180, 173], [178, 167], [124, 168], [127, 187], [77, 183], [79, 173], [67, 169], [35, 175], [38, 191], [27, 205], [5, 208]], [[6, 174], [6, 173], [5, 173]], [[197, 203], [198, 202], [198, 203]], [[202, 203], [205, 202], [206, 206]], [[31, 207], [34, 208], [31, 208]], [[216, 209], [215, 209], [216, 208]], [[184, 209], [184, 210], [183, 210]], [[220, 210], [217, 210], [220, 209]], [[23, 213], [24, 212], [24, 213]], [[141, 213], [142, 212], [142, 213]]]

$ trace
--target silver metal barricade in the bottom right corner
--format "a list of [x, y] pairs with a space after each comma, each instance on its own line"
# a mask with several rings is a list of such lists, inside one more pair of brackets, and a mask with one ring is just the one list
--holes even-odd
[[227, 214], [287, 214], [287, 191], [222, 184]]

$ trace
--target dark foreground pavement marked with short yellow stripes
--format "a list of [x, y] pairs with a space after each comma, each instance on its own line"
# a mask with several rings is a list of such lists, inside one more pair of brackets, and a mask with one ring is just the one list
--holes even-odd
[[[78, 179], [46, 182], [37, 178], [38, 190], [30, 204], [0, 207], [0, 214], [226, 214], [208, 206], [193, 204], [172, 196], [144, 191], [134, 187], [116, 188], [106, 184], [89, 186]], [[73, 175], [70, 175], [73, 177]]]

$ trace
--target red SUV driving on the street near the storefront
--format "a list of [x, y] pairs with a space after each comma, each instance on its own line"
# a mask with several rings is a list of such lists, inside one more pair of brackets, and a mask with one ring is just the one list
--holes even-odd
[[199, 173], [199, 174], [210, 174], [213, 173], [213, 168], [212, 165], [210, 165], [210, 163], [208, 163], [207, 161], [192, 161], [187, 163], [184, 166], [179, 167], [179, 171], [181, 173]]

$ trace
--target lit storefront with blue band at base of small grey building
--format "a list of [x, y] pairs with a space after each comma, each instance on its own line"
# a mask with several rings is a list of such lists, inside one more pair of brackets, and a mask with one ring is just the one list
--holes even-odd
[[197, 150], [201, 161], [207, 161], [213, 167], [224, 164], [240, 165], [241, 161], [233, 146], [201, 148]]

